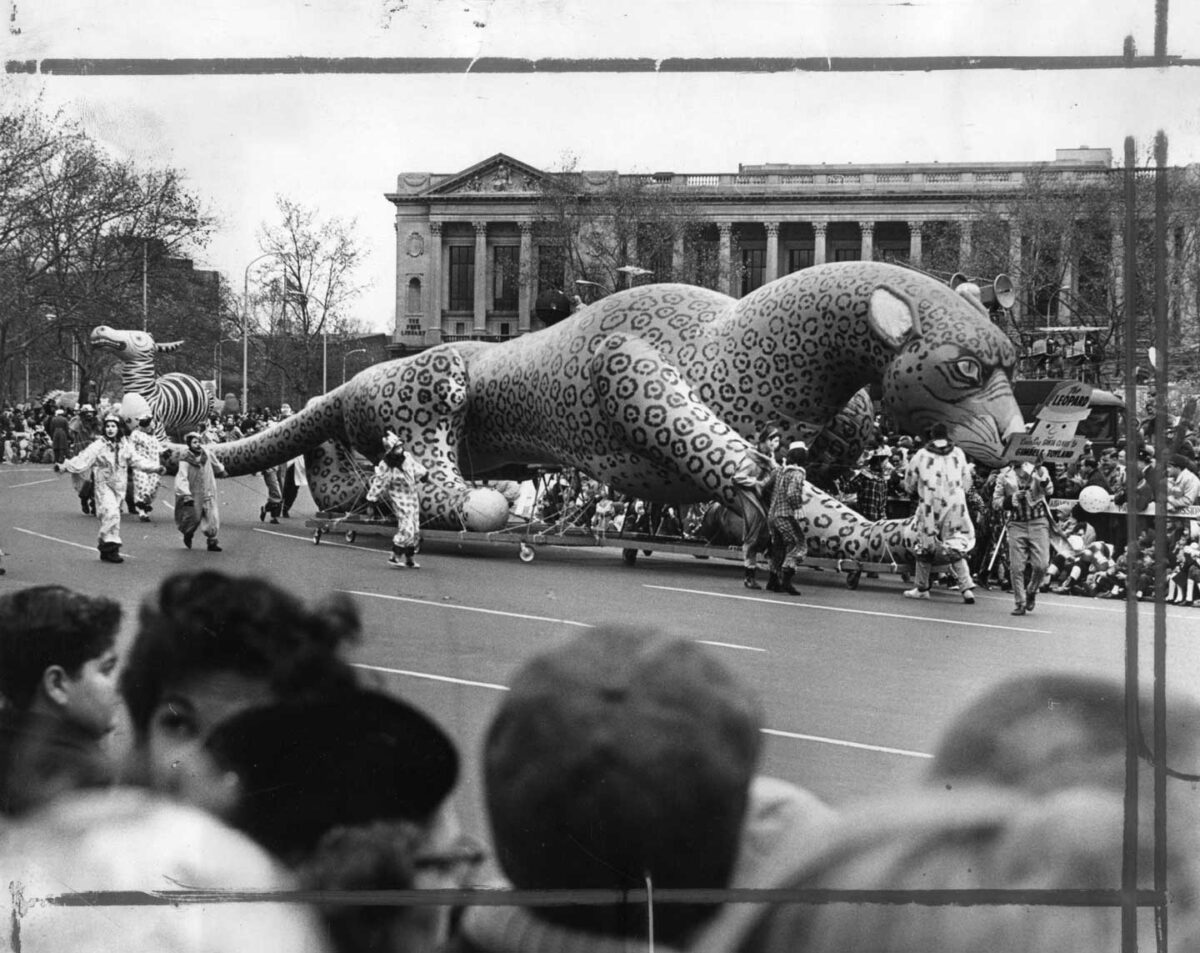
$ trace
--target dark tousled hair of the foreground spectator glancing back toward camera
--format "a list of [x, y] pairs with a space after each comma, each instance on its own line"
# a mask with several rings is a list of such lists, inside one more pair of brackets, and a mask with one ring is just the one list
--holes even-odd
[[198, 675], [260, 678], [281, 700], [350, 690], [358, 679], [340, 649], [359, 633], [358, 610], [346, 595], [310, 609], [265, 579], [180, 573], [142, 606], [121, 694], [144, 737], [163, 694]]

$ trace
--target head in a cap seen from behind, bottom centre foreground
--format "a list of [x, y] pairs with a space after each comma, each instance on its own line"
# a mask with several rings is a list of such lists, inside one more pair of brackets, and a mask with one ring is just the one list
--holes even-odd
[[[722, 887], [761, 745], [760, 703], [701, 646], [601, 628], [512, 682], [485, 741], [500, 867], [522, 889]], [[678, 942], [712, 905], [664, 904]], [[646, 936], [644, 905], [546, 906], [592, 934]]]

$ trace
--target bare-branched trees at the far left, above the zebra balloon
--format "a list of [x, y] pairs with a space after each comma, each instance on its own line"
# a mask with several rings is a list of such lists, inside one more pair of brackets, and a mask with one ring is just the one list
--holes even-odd
[[[61, 115], [0, 114], [0, 392], [17, 392], [22, 362], [47, 386], [68, 385], [73, 367], [102, 389], [110, 361], [88, 347], [91, 328], [144, 322], [155, 332], [172, 299], [161, 266], [212, 226], [176, 170], [118, 161]], [[179, 318], [188, 337], [206, 329], [186, 296], [175, 305], [188, 312]], [[60, 376], [47, 378], [52, 368]]]

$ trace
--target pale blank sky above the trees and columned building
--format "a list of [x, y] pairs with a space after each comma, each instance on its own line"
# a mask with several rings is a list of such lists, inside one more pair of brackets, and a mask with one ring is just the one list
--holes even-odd
[[[1200, 17], [1138, 70], [211, 76], [215, 58], [1116, 56], [1154, 48], [1154, 0], [5, 0], [0, 96], [62, 107], [115, 154], [185, 173], [218, 220], [194, 253], [240, 290], [284, 194], [356, 221], [356, 317], [395, 322], [392, 191], [496, 152], [540, 168], [736, 172], [739, 163], [1139, 157], [1163, 131], [1200, 162]], [[66, 76], [44, 60], [199, 61], [168, 76]]]

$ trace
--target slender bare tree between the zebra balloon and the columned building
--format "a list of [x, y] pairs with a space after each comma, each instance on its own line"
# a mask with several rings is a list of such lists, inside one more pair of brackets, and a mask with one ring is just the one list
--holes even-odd
[[251, 334], [268, 368], [263, 379], [251, 379], [251, 403], [302, 406], [325, 390], [326, 354], [341, 354], [348, 338], [362, 334], [352, 306], [367, 287], [355, 274], [367, 252], [355, 220], [322, 218], [284, 196], [275, 204], [277, 221], [259, 229], [268, 257], [254, 272], [248, 302]]

